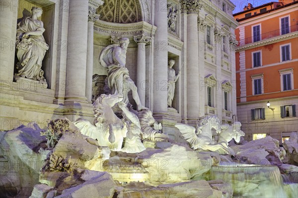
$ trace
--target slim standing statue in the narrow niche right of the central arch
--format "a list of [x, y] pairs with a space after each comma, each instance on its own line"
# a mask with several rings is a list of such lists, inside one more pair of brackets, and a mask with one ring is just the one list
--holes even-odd
[[175, 84], [180, 76], [181, 68], [179, 69], [178, 74], [176, 75], [175, 70], [172, 68], [175, 64], [175, 60], [169, 60], [168, 65], [168, 107], [172, 107], [172, 101], [175, 94]]

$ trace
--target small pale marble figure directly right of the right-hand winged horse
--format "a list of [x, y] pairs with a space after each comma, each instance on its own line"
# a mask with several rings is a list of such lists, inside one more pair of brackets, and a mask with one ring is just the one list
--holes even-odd
[[241, 136], [244, 136], [244, 132], [241, 131], [241, 123], [234, 121], [232, 125], [223, 124], [222, 132], [219, 135], [218, 144], [225, 145], [225, 147], [229, 148], [229, 154], [235, 155], [235, 152], [232, 148], [228, 147], [228, 142], [234, 139], [236, 143], [240, 142]]

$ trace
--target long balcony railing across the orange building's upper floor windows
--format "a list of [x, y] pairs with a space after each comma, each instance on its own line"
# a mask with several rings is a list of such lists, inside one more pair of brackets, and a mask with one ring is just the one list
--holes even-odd
[[241, 39], [239, 41], [238, 47], [242, 47], [244, 45], [251, 44], [251, 43], [257, 43], [257, 42], [260, 42], [260, 41], [263, 41], [266, 39], [271, 39], [273, 37], [289, 34], [289, 33], [296, 32], [296, 31], [298, 31], [298, 24], [292, 25], [286, 29], [278, 29], [278, 30], [274, 30], [271, 32], [263, 33], [261, 35], [255, 36], [255, 37], [248, 37], [245, 39]]

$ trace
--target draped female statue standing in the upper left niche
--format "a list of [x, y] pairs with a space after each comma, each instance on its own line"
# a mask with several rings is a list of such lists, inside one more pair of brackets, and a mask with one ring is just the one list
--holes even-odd
[[43, 22], [37, 19], [41, 16], [42, 9], [32, 7], [31, 12], [31, 16], [17, 24], [16, 55], [19, 62], [16, 64], [15, 75], [46, 84], [41, 66], [49, 46], [42, 35], [45, 31]]

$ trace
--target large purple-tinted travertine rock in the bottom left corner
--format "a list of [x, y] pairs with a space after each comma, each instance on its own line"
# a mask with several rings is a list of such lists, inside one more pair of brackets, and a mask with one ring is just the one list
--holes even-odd
[[47, 140], [40, 136], [40, 131], [42, 129], [32, 122], [27, 126], [0, 132], [0, 155], [7, 161], [0, 162], [0, 182], [3, 184], [0, 197], [14, 197], [16, 194], [29, 197], [34, 185], [38, 184], [39, 170], [48, 152], [38, 152], [40, 148], [47, 147]]

